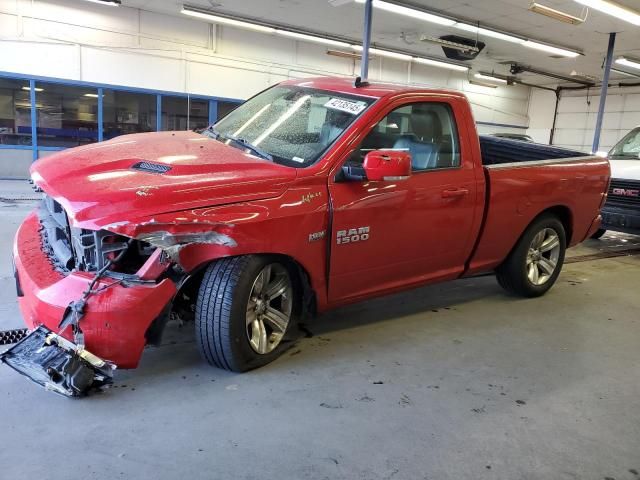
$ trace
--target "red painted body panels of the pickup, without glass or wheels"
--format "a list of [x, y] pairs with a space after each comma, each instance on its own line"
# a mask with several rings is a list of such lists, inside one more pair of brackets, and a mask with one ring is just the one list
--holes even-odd
[[[66, 150], [38, 161], [34, 179], [83, 228], [132, 237], [159, 231], [176, 238], [216, 232], [232, 240], [233, 245], [194, 241], [180, 248], [177, 259], [187, 272], [224, 256], [286, 255], [307, 272], [320, 311], [491, 270], [548, 208], [570, 212], [572, 244], [597, 228], [609, 179], [606, 160], [485, 169], [471, 109], [460, 93], [388, 85], [355, 88], [351, 80], [331, 78], [285, 83], [380, 100], [315, 165], [304, 169], [176, 132], [128, 135]], [[342, 163], [376, 122], [415, 101], [451, 106], [460, 136], [460, 168], [414, 173], [397, 182], [335, 182]], [[172, 169], [164, 175], [132, 172], [130, 166], [140, 160]], [[369, 227], [366, 240], [336, 244], [337, 232], [359, 227]], [[16, 265], [25, 291], [20, 307], [29, 326], [42, 322], [55, 329], [90, 277], [52, 271], [36, 230], [32, 215], [16, 238]], [[311, 241], [309, 236], [317, 232], [325, 232], [325, 238]], [[149, 264], [145, 278], [163, 270]], [[120, 367], [135, 366], [144, 332], [175, 290], [173, 282], [163, 280], [113, 287], [92, 298], [82, 320], [89, 350]]]

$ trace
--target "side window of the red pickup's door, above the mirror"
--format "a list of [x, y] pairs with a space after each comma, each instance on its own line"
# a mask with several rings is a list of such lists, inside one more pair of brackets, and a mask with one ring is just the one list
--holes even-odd
[[460, 165], [458, 131], [446, 103], [412, 103], [393, 110], [365, 137], [348, 160], [362, 165], [372, 150], [406, 150], [413, 171]]

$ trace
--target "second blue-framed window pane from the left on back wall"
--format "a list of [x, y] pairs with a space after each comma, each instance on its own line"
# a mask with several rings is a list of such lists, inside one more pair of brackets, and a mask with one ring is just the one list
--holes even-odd
[[36, 82], [38, 146], [75, 147], [98, 141], [95, 88]]

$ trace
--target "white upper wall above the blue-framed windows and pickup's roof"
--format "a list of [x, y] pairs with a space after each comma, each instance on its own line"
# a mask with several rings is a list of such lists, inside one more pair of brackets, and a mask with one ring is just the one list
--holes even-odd
[[[0, 0], [0, 32], [0, 71], [218, 97], [359, 71], [357, 60], [329, 56], [323, 46], [80, 1]], [[391, 59], [370, 68], [374, 80], [465, 91], [485, 133], [514, 131], [492, 124], [528, 124], [526, 87], [475, 86], [466, 74]]]

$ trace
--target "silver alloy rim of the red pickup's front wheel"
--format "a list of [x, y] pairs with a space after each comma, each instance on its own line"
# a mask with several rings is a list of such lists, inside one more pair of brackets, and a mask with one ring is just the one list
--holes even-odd
[[289, 272], [279, 263], [265, 266], [256, 276], [247, 302], [247, 338], [256, 353], [272, 352], [291, 320], [293, 288]]

